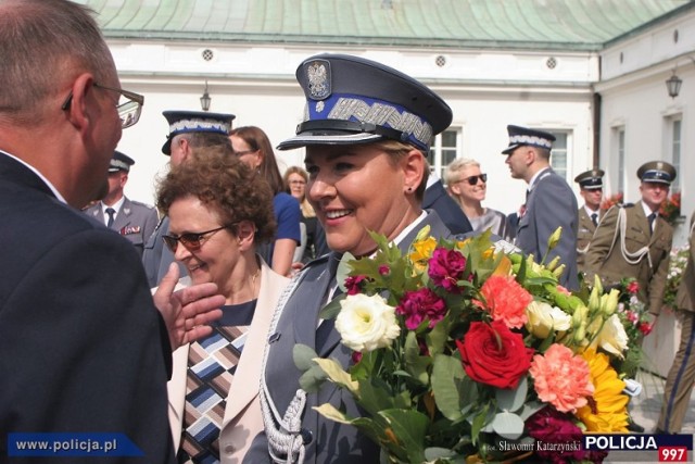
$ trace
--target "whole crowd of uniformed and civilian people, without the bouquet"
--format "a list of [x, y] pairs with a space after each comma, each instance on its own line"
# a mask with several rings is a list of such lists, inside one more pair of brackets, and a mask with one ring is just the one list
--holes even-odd
[[[432, 137], [452, 122], [444, 100], [383, 64], [327, 53], [300, 63], [305, 121], [277, 147], [303, 148], [305, 166], [282, 175], [263, 129], [232, 128], [232, 114], [164, 112], [169, 170], [154, 209], [124, 195], [135, 161], [116, 146], [143, 97], [121, 88], [91, 12], [1, 0], [0, 46], [0, 214], [11, 224], [0, 254], [13, 263], [0, 271], [3, 434], [115, 430], [152, 463], [379, 462], [355, 427], [313, 409], [358, 416], [354, 399], [330, 385], [303, 391], [293, 362], [296, 343], [350, 362], [319, 313], [340, 293], [342, 255], [375, 251], [371, 231], [407, 251], [425, 227], [490, 230], [539, 263], [558, 260], [569, 290], [634, 277], [660, 312], [673, 230], [658, 211], [677, 176], [667, 162], [642, 165], [641, 200], [608, 211], [604, 172], [580, 174], [579, 208], [551, 167], [555, 137], [509, 125], [501, 151], [527, 196], [505, 214], [482, 205], [480, 162], [455, 160], [444, 181], [430, 173]], [[694, 240], [691, 227], [659, 432], [681, 429], [695, 380]]]

